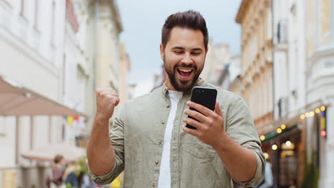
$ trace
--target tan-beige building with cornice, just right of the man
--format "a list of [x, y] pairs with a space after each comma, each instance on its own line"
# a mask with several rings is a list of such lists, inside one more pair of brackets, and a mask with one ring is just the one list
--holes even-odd
[[[258, 130], [273, 120], [272, 21], [269, 0], [243, 0], [236, 16], [241, 24], [241, 93]], [[258, 132], [263, 134], [264, 132]]]

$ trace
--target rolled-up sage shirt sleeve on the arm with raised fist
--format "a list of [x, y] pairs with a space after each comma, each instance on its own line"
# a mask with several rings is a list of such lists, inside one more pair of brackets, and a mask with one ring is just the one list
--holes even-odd
[[88, 167], [88, 174], [92, 177], [96, 184], [110, 184], [113, 179], [116, 179], [124, 170], [124, 122], [125, 122], [125, 105], [121, 108], [121, 111], [115, 120], [110, 130], [110, 140], [115, 150], [115, 164], [110, 172], [104, 175], [96, 175], [91, 172]]

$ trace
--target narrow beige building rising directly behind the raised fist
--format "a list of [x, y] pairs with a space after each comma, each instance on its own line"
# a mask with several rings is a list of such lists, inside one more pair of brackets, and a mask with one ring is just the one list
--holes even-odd
[[111, 87], [119, 92], [121, 45], [119, 34], [123, 31], [115, 1], [95, 1], [98, 8], [96, 28], [97, 87]]

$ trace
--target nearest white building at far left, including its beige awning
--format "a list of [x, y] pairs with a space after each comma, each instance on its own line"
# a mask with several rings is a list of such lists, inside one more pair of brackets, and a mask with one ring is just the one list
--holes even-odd
[[0, 187], [43, 188], [53, 146], [78, 150], [64, 120], [84, 106], [77, 31], [69, 0], [0, 0]]

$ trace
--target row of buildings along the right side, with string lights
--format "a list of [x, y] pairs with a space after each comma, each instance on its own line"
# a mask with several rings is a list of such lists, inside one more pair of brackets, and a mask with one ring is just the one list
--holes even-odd
[[[265, 4], [267, 11], [260, 10], [261, 4]], [[329, 160], [334, 157], [333, 139], [330, 138], [334, 123], [330, 105], [334, 88], [333, 4], [330, 0], [242, 1], [238, 11], [236, 21], [241, 23], [243, 30], [243, 83], [245, 79], [252, 80], [248, 73], [261, 70], [256, 64], [248, 66], [246, 63], [254, 57], [261, 59], [259, 48], [253, 48], [249, 41], [258, 30], [268, 31], [260, 33], [268, 38], [268, 49], [265, 45], [264, 48], [260, 45], [260, 49], [272, 54], [271, 57], [265, 55], [273, 60], [271, 65], [270, 61], [265, 63], [268, 70], [272, 68], [268, 71], [271, 74], [267, 72], [269, 77], [266, 77], [267, 73], [260, 71], [258, 77], [262, 76], [260, 80], [273, 79], [271, 88], [269, 83], [264, 85], [272, 94], [269, 98], [261, 95], [263, 88], [257, 88], [256, 79], [250, 84], [255, 89], [247, 92], [246, 85], [242, 93], [246, 100], [254, 95], [261, 99], [248, 100], [254, 112], [258, 111], [252, 101], [268, 105], [264, 109], [268, 109], [270, 115], [262, 123], [255, 115], [255, 125], [263, 151], [273, 164], [274, 187], [302, 187], [310, 182], [318, 182], [313, 185], [318, 187], [334, 186], [330, 175], [333, 160]], [[256, 18], [251, 14], [261, 16]], [[265, 19], [268, 24], [263, 29], [261, 21]], [[250, 26], [252, 23], [256, 26]], [[245, 36], [248, 31], [251, 34]], [[258, 46], [263, 40], [255, 41], [253, 43]]]

